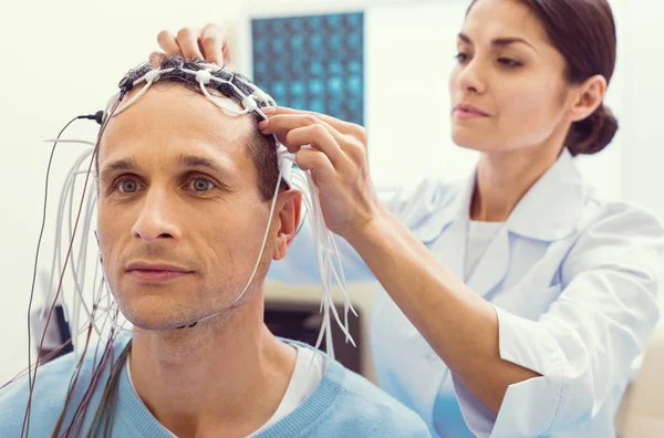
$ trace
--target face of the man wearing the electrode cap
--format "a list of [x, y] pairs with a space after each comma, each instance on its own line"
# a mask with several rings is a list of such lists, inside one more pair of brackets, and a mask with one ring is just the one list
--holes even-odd
[[[151, 88], [110, 121], [97, 228], [110, 288], [134, 325], [198, 321], [228, 309], [247, 284], [270, 210], [247, 154], [252, 123], [173, 84]], [[268, 239], [252, 285], [274, 257]]]

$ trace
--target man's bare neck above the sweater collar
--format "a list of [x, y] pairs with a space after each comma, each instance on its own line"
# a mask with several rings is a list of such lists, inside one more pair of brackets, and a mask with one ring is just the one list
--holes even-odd
[[297, 351], [269, 332], [262, 312], [262, 296], [255, 296], [191, 328], [134, 334], [132, 380], [159, 423], [178, 437], [220, 429], [240, 437], [269, 420]]

